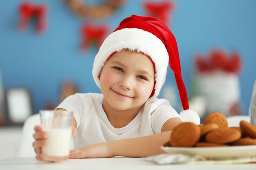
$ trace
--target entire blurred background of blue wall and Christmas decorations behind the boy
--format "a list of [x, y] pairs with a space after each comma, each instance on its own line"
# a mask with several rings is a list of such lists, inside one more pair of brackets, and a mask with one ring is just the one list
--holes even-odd
[[[74, 93], [100, 93], [92, 78], [102, 40], [132, 15], [163, 20], [177, 40], [191, 107], [248, 115], [256, 79], [255, 0], [1, 0], [0, 125], [22, 125]], [[181, 110], [168, 68], [159, 98]]]

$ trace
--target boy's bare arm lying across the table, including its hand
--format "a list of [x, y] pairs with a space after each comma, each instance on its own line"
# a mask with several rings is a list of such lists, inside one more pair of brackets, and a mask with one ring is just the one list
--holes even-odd
[[[176, 122], [176, 119], [179, 118], [172, 118], [166, 121], [162, 127], [161, 133], [84, 146], [82, 148], [71, 150], [70, 158], [103, 158], [114, 156], [147, 157], [164, 153], [161, 146], [170, 141], [171, 131], [163, 132], [163, 130], [172, 130], [174, 126], [170, 126], [171, 121]], [[175, 125], [182, 122], [179, 120]]]

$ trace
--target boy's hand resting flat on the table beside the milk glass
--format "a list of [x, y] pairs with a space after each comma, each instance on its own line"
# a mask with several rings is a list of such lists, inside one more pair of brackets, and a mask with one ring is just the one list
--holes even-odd
[[111, 150], [111, 142], [94, 144], [70, 150], [70, 158], [110, 158], [115, 155]]

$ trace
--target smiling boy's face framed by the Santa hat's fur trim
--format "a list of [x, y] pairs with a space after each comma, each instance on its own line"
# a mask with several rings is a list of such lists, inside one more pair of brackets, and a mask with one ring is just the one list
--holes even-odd
[[122, 50], [112, 55], [103, 66], [101, 92], [112, 108], [138, 108], [153, 91], [154, 75], [153, 64], [146, 55]]

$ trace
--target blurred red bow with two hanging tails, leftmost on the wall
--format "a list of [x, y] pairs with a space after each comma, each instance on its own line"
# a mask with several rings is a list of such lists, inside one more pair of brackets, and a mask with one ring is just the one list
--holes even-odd
[[25, 32], [28, 29], [29, 20], [34, 16], [37, 20], [36, 32], [43, 33], [47, 26], [48, 6], [46, 4], [34, 4], [32, 2], [22, 2], [19, 7], [20, 20], [18, 29]]

